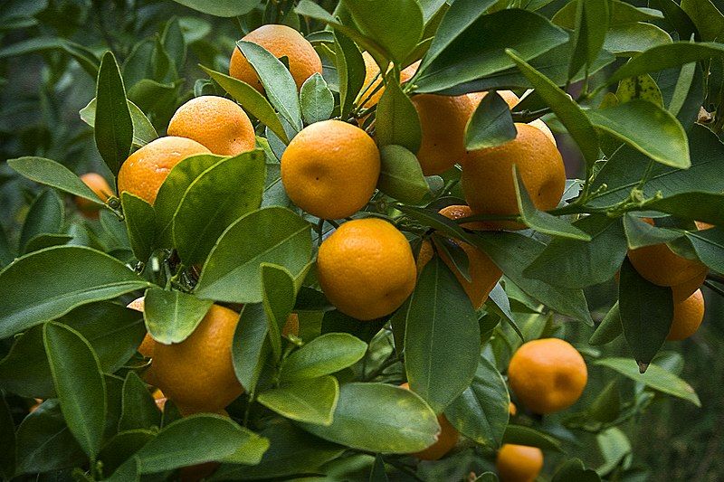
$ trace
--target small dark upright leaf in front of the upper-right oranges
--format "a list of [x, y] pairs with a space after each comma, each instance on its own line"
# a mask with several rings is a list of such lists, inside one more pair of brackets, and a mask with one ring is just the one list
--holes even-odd
[[469, 151], [495, 147], [513, 140], [518, 130], [510, 108], [498, 92], [482, 98], [465, 126], [465, 148]]

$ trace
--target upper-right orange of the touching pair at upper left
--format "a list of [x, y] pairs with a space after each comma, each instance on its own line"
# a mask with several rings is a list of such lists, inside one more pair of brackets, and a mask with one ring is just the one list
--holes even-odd
[[179, 107], [167, 132], [169, 136], [193, 139], [219, 156], [236, 156], [256, 144], [252, 121], [241, 106], [211, 95], [191, 99]]

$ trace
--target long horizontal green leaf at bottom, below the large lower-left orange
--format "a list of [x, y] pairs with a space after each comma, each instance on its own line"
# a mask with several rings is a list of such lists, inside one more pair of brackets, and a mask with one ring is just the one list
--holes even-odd
[[142, 474], [155, 474], [205, 462], [254, 465], [269, 440], [221, 415], [191, 415], [158, 432], [136, 453]]

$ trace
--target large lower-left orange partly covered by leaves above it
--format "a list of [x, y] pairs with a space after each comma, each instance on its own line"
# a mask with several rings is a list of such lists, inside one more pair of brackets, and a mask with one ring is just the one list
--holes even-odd
[[186, 340], [154, 346], [154, 383], [182, 413], [220, 412], [243, 393], [232, 362], [238, 322], [238, 313], [212, 305]]

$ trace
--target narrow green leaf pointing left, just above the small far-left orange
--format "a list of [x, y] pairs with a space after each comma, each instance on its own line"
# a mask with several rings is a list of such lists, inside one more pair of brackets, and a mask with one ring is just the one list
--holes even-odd
[[74, 175], [66, 166], [51, 159], [25, 156], [18, 157], [17, 159], [9, 159], [7, 165], [18, 174], [24, 175], [24, 177], [36, 183], [55, 187], [65, 193], [80, 196], [93, 203], [103, 203], [99, 197], [90, 190], [90, 187], [81, 181], [80, 177]]

